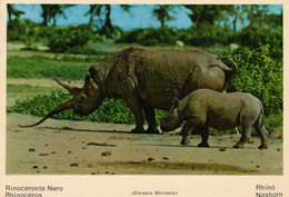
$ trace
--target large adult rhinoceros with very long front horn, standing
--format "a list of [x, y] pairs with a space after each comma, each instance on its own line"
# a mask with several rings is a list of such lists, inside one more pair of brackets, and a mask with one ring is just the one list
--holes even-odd
[[[73, 99], [51, 111], [36, 126], [61, 110], [72, 108], [79, 116], [94, 111], [104, 98], [120, 98], [136, 118], [132, 132], [159, 134], [155, 108], [168, 110], [175, 97], [181, 99], [199, 88], [223, 91], [229, 76], [238, 68], [228, 68], [215, 55], [201, 50], [156, 51], [127, 48], [98, 67], [91, 67], [82, 88], [67, 88]], [[144, 111], [144, 117], [142, 114]], [[30, 127], [31, 127], [30, 126]], [[29, 127], [29, 126], [27, 126]]]

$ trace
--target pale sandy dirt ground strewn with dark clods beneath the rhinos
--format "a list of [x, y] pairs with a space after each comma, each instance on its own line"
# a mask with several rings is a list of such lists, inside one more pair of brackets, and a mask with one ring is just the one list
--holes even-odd
[[233, 149], [239, 135], [210, 136], [210, 148], [199, 148], [200, 136], [181, 146], [181, 136], [130, 134], [131, 125], [96, 124], [7, 115], [8, 175], [282, 175], [282, 140], [260, 139]]

